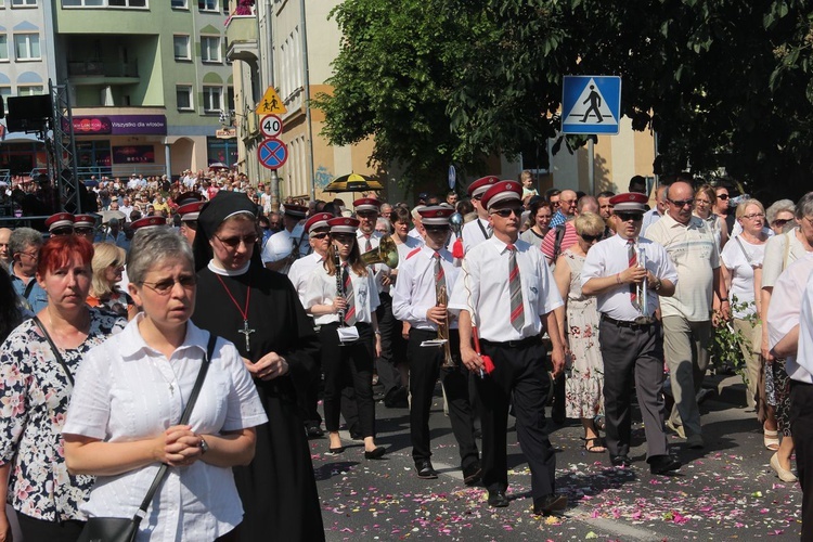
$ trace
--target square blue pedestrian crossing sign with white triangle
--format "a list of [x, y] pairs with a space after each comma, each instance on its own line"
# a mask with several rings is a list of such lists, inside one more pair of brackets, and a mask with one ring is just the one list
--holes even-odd
[[617, 134], [621, 78], [566, 75], [562, 91], [562, 132]]

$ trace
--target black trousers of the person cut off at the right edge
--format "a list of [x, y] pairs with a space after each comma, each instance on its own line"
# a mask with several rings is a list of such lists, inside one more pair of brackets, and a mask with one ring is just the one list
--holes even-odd
[[813, 542], [813, 385], [790, 380], [790, 433], [802, 487], [802, 542]]

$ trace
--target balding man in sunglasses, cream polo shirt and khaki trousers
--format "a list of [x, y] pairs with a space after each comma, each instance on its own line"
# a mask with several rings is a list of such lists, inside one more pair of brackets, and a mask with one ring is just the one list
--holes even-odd
[[730, 305], [714, 232], [707, 221], [692, 215], [692, 184], [674, 182], [664, 197], [667, 214], [649, 228], [647, 238], [667, 249], [679, 278], [674, 295], [660, 304], [663, 353], [674, 397], [667, 426], [684, 437], [689, 448], [699, 449], [704, 440], [696, 396], [709, 366], [714, 294], [725, 309]]

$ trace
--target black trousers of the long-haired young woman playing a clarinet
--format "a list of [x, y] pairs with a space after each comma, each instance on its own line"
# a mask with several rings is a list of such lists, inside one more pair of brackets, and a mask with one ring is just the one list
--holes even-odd
[[325, 324], [319, 332], [324, 371], [324, 425], [328, 431], [339, 429], [341, 389], [346, 375], [352, 379], [356, 404], [359, 409], [359, 431], [362, 437], [375, 436], [375, 404], [373, 403], [373, 328], [357, 323], [359, 339], [339, 345], [338, 324]]

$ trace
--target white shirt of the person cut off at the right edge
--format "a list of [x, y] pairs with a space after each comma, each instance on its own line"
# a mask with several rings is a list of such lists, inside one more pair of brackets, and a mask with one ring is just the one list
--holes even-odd
[[[795, 325], [799, 324], [799, 348], [796, 356], [785, 358], [785, 371], [792, 379], [808, 384], [813, 384], [813, 283], [810, 282], [812, 272], [813, 254], [808, 254], [788, 266], [776, 280], [771, 305], [767, 307], [769, 348], [775, 347]], [[802, 343], [805, 343], [804, 349]]]

